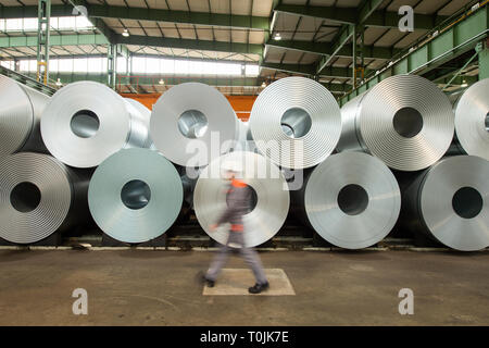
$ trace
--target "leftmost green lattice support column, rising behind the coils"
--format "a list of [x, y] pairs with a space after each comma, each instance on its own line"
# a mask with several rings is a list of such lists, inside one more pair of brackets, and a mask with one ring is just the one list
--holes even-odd
[[37, 26], [37, 80], [45, 85], [49, 82], [49, 21], [51, 17], [51, 0], [38, 2]]

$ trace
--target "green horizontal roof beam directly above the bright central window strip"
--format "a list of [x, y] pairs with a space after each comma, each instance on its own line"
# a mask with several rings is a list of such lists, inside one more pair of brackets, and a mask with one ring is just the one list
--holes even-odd
[[130, 35], [129, 37], [124, 37], [122, 35], [118, 35], [116, 44], [151, 46], [151, 47], [171, 47], [189, 50], [203, 50], [217, 52], [250, 53], [259, 55], [262, 55], [263, 53], [263, 45], [259, 44], [176, 39], [155, 36]]

